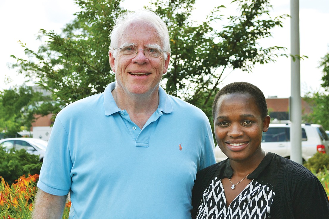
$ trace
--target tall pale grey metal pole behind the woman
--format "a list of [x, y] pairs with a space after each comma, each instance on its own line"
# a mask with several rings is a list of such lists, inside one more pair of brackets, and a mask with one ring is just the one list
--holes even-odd
[[302, 164], [302, 104], [300, 97], [300, 60], [299, 60], [299, 0], [290, 0], [291, 12], [291, 156], [290, 159]]

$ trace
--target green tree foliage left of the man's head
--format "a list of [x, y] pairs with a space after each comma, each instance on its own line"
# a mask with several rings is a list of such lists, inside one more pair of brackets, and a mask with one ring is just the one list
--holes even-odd
[[46, 43], [34, 52], [21, 45], [29, 60], [19, 59], [13, 67], [53, 93], [58, 112], [65, 105], [86, 96], [103, 92], [114, 81], [109, 65], [109, 31], [114, 18], [123, 12], [119, 0], [76, 1], [81, 11], [66, 25], [63, 33], [41, 29]]

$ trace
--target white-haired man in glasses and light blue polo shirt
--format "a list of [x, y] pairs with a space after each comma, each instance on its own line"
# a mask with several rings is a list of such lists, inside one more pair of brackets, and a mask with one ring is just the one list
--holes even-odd
[[215, 163], [206, 115], [167, 95], [168, 30], [158, 15], [121, 15], [111, 33], [116, 82], [56, 117], [34, 219], [190, 219], [195, 175]]

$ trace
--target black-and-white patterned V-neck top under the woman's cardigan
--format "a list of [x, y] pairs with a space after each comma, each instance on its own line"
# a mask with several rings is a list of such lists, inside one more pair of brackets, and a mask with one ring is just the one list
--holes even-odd
[[202, 195], [197, 219], [265, 219], [269, 215], [274, 192], [266, 185], [252, 180], [226, 207], [223, 185], [219, 177], [211, 182]]

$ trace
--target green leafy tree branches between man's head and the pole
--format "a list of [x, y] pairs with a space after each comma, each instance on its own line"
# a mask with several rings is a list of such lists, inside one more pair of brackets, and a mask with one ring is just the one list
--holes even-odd
[[272, 19], [268, 1], [233, 1], [239, 4], [240, 15], [230, 16], [228, 24], [218, 30], [218, 23], [223, 23], [220, 12], [225, 7], [216, 7], [198, 24], [190, 20], [194, 2], [156, 1], [149, 9], [162, 17], [170, 33], [171, 65], [164, 75], [167, 93], [207, 109], [224, 70], [249, 72], [255, 63], [264, 64], [279, 56], [275, 52], [284, 48], [262, 48], [258, 40], [271, 36], [271, 28], [282, 26], [285, 15]]

